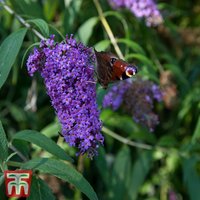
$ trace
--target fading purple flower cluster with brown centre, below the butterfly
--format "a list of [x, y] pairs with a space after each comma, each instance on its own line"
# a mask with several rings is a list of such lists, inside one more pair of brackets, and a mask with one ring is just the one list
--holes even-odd
[[128, 79], [111, 88], [104, 97], [103, 107], [117, 110], [121, 106], [133, 116], [136, 123], [153, 131], [159, 123], [158, 116], [152, 112], [154, 100], [162, 100], [161, 90], [156, 84], [147, 80]]

